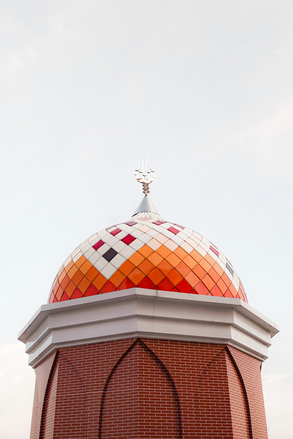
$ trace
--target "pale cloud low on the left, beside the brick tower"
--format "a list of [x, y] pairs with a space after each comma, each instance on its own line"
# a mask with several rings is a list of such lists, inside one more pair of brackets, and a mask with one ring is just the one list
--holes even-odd
[[29, 439], [35, 372], [21, 342], [0, 345], [0, 437]]

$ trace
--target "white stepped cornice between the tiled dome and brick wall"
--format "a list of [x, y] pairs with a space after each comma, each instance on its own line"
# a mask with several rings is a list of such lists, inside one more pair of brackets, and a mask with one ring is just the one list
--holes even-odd
[[277, 332], [240, 299], [130, 288], [43, 305], [18, 340], [32, 367], [57, 348], [128, 337], [227, 344], [263, 361]]

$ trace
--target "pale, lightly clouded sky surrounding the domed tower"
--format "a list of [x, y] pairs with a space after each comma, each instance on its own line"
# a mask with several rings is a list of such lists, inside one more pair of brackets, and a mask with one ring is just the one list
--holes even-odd
[[279, 324], [264, 402], [269, 439], [293, 438], [292, 22], [282, 0], [1, 2], [1, 438], [29, 439], [18, 332], [72, 250], [132, 216], [142, 157], [160, 214]]

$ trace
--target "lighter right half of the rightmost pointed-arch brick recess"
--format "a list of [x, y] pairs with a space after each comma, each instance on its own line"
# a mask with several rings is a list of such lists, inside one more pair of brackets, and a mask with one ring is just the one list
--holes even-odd
[[230, 395], [233, 437], [252, 439], [252, 425], [247, 391], [239, 367], [229, 350], [225, 347], [226, 365]]

